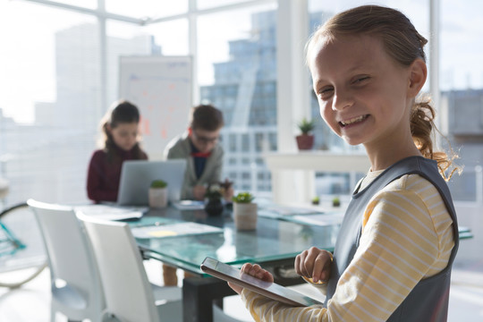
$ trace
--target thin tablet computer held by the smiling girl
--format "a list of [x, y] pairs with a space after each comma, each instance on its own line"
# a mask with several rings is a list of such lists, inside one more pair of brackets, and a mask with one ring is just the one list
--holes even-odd
[[320, 301], [309, 298], [300, 292], [293, 291], [280, 284], [265, 282], [251, 275], [242, 274], [240, 269], [222, 263], [215, 258], [205, 258], [199, 267], [209, 275], [213, 275], [227, 282], [232, 282], [233, 284], [239, 284], [253, 292], [258, 292], [276, 301], [282, 301], [293, 306], [323, 304]]

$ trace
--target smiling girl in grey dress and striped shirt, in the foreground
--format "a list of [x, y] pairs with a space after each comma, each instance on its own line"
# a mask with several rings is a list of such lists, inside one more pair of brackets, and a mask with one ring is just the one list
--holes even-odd
[[[334, 257], [312, 247], [295, 258], [325, 305], [295, 308], [231, 284], [256, 321], [446, 321], [458, 225], [445, 179], [455, 168], [453, 156], [433, 150], [435, 110], [419, 97], [426, 43], [404, 14], [376, 5], [335, 15], [310, 38], [320, 114], [343, 140], [364, 145], [371, 168]], [[242, 272], [274, 280], [258, 265]]]

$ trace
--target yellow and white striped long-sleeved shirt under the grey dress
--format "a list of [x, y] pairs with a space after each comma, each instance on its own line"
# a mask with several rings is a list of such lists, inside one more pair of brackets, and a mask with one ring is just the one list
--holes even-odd
[[[380, 173], [369, 173], [363, 186]], [[256, 321], [386, 321], [421, 279], [446, 267], [452, 224], [436, 188], [403, 175], [370, 200], [360, 246], [327, 308], [293, 308], [246, 289], [242, 299]]]

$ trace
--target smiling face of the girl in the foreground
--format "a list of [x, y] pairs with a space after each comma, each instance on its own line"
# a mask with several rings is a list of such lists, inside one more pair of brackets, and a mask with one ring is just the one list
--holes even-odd
[[372, 36], [323, 40], [309, 55], [309, 67], [320, 114], [330, 128], [349, 144], [366, 148], [411, 135], [410, 68], [394, 62]]

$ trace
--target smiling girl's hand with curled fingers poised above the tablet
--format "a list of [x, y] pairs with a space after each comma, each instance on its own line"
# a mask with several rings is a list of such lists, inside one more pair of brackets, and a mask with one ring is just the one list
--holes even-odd
[[312, 282], [327, 282], [330, 276], [332, 254], [327, 250], [312, 247], [302, 251], [295, 258], [295, 272], [298, 275], [311, 278]]

